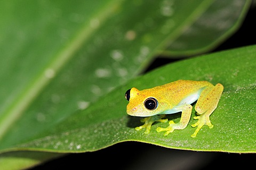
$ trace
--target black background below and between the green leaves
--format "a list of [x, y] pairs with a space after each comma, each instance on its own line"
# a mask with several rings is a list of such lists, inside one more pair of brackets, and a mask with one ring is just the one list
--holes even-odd
[[[241, 28], [213, 51], [256, 44], [255, 16], [254, 5]], [[177, 60], [159, 57], [145, 72], [173, 61]], [[31, 169], [254, 169], [255, 160], [253, 153], [196, 152], [141, 142], [122, 142], [95, 152], [73, 153]]]

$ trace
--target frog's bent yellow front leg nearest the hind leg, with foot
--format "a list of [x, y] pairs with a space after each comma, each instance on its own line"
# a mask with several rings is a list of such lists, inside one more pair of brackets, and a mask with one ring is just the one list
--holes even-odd
[[157, 127], [156, 131], [157, 132], [162, 132], [166, 131], [164, 135], [168, 135], [169, 133], [172, 133], [175, 129], [183, 129], [187, 127], [188, 122], [191, 117], [191, 112], [192, 112], [192, 106], [190, 104], [183, 104], [182, 106], [179, 106], [175, 108], [175, 110], [182, 111], [181, 112], [181, 118], [179, 123], [174, 123], [172, 120], [169, 122], [169, 126], [166, 128], [162, 127]]

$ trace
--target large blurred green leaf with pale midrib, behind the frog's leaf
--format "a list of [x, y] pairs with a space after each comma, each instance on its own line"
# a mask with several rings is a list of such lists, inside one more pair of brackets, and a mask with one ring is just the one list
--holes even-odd
[[[0, 149], [57, 132], [63, 120], [137, 76], [217, 2], [3, 1]], [[249, 2], [238, 5], [241, 16]], [[16, 153], [9, 155], [19, 159]]]

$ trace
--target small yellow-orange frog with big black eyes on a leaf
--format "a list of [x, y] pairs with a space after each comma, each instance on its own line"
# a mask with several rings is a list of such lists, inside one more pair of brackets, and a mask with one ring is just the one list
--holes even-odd
[[213, 128], [210, 115], [218, 106], [223, 88], [220, 83], [214, 86], [206, 80], [176, 80], [141, 91], [132, 87], [125, 93], [125, 98], [129, 101], [126, 112], [130, 116], [143, 117], [141, 122], [144, 124], [135, 129], [139, 131], [145, 128], [146, 134], [149, 134], [155, 122], [166, 123], [166, 115], [181, 112], [178, 123], [170, 120], [169, 126], [156, 128], [157, 132], [165, 131], [164, 136], [167, 136], [174, 130], [187, 127], [193, 109], [191, 104], [195, 104], [194, 119], [197, 122], [191, 126], [197, 128], [191, 137], [196, 137], [204, 125]]

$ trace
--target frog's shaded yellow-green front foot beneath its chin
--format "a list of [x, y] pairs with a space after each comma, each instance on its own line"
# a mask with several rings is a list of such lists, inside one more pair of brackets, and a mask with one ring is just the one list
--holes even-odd
[[139, 131], [142, 128], [146, 128], [146, 131], [144, 133], [148, 134], [150, 132], [151, 126], [155, 122], [167, 122], [168, 119], [162, 119], [165, 115], [155, 115], [146, 117], [140, 120], [140, 122], [144, 123], [143, 125], [139, 127], [135, 127], [136, 131]]

